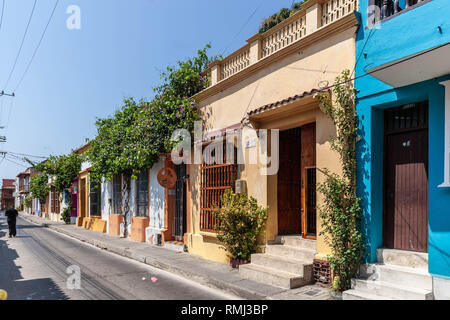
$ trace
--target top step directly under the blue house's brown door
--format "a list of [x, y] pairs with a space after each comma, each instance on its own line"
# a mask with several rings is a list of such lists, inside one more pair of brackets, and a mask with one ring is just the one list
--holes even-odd
[[382, 264], [423, 269], [428, 271], [428, 253], [423, 252], [378, 249], [377, 261]]

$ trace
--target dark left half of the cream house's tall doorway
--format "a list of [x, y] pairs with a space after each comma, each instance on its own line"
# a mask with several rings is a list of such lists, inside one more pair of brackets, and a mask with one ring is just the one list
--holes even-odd
[[278, 234], [301, 233], [301, 128], [280, 132]]

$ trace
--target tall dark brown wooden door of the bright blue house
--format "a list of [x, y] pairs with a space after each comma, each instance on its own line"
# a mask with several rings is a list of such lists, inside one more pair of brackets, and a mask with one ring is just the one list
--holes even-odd
[[428, 107], [385, 113], [384, 246], [428, 249]]

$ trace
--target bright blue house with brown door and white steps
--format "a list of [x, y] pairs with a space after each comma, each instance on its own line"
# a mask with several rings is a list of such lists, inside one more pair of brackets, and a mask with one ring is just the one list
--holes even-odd
[[447, 0], [361, 1], [358, 193], [368, 258], [348, 299], [450, 299]]

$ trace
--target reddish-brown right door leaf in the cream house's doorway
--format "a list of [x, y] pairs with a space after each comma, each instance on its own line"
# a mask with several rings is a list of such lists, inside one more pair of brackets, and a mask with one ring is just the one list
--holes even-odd
[[316, 124], [301, 128], [301, 188], [302, 234], [304, 238], [316, 236]]

